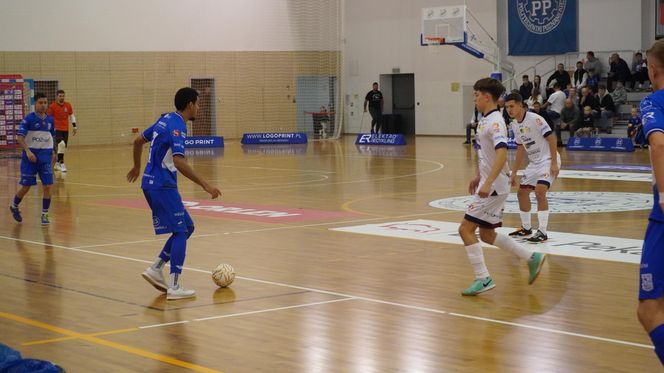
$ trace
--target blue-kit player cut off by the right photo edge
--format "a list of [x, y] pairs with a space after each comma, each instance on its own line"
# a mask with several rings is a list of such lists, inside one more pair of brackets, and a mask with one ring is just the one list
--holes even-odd
[[637, 313], [664, 364], [664, 40], [652, 45], [647, 61], [654, 92], [641, 101], [641, 121], [650, 142], [654, 202], [641, 254]]

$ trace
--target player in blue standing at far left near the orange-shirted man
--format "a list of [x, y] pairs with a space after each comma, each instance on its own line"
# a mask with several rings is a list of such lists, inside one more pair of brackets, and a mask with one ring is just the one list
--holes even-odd
[[48, 209], [51, 206], [51, 185], [53, 185], [53, 138], [55, 137], [55, 122], [53, 117], [46, 114], [48, 100], [43, 93], [35, 94], [35, 111], [28, 114], [17, 132], [17, 141], [23, 148], [21, 156], [21, 189], [14, 196], [14, 202], [9, 206], [14, 220], [22, 222], [23, 217], [18, 205], [23, 197], [30, 191], [30, 187], [37, 185], [37, 175], [42, 182], [44, 195], [42, 199], [42, 225], [48, 225]]

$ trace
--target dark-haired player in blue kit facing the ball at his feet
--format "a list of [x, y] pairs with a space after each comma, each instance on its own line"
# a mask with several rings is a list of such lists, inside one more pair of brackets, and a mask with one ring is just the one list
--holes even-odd
[[[177, 172], [200, 185], [214, 199], [221, 195], [189, 166], [184, 158], [184, 139], [187, 137], [188, 120], [195, 120], [198, 113], [198, 92], [193, 88], [181, 88], [175, 94], [177, 111], [164, 114], [155, 124], [134, 140], [134, 167], [127, 173], [127, 180], [134, 182], [140, 176], [143, 145], [150, 143], [148, 162], [145, 165], [141, 189], [152, 210], [155, 234], [170, 233], [164, 248], [143, 273], [143, 278], [157, 290], [166, 293], [167, 300], [191, 298], [194, 290], [179, 284], [187, 239], [194, 232], [194, 222], [182, 204], [178, 192]], [[162, 270], [169, 262], [170, 277], [164, 280]]]

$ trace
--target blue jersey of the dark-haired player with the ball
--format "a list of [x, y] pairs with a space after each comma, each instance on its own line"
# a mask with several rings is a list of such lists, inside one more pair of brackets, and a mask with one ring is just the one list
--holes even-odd
[[164, 114], [157, 123], [143, 131], [143, 138], [150, 142], [150, 152], [141, 188], [145, 190], [177, 188], [177, 170], [173, 156], [184, 157], [186, 137], [187, 126], [184, 119], [176, 112]]

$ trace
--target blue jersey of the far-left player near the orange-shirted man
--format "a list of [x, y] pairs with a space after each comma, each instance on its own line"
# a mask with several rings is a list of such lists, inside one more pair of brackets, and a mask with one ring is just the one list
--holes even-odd
[[[51, 162], [55, 137], [55, 121], [52, 116], [45, 115], [41, 118], [35, 112], [28, 114], [21, 121], [17, 134], [25, 138], [26, 145], [39, 162]], [[23, 157], [27, 157], [25, 151]]]

